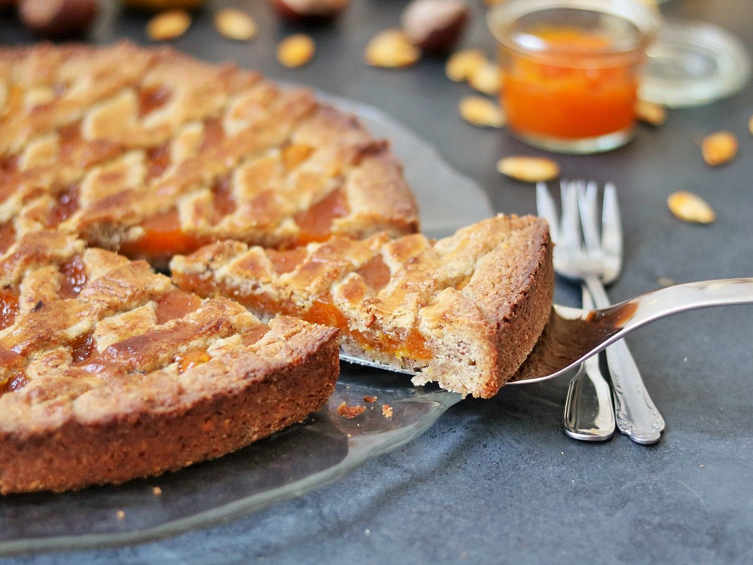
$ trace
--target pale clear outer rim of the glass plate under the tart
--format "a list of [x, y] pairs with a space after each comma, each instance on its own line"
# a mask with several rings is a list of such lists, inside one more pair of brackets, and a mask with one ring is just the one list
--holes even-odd
[[[401, 162], [404, 163], [407, 181], [413, 192], [416, 193], [416, 199], [419, 201], [419, 209], [425, 209], [426, 203], [432, 202], [431, 199], [428, 199], [431, 193], [434, 193], [433, 196], [435, 199], [436, 193], [441, 192], [441, 190], [437, 190], [436, 183], [431, 184], [431, 190], [427, 190], [424, 184], [425, 181], [421, 181], [422, 175], [425, 175], [426, 172], [425, 169], [420, 167], [431, 168], [432, 180], [445, 179], [450, 181], [452, 186], [446, 185], [444, 188], [450, 188], [455, 191], [456, 195], [460, 195], [459, 198], [455, 199], [456, 202], [446, 206], [446, 208], [450, 208], [453, 211], [453, 217], [449, 217], [448, 215], [436, 220], [432, 218], [434, 221], [425, 223], [422, 228], [428, 235], [432, 237], [448, 235], [459, 226], [483, 220], [483, 218], [494, 214], [488, 196], [486, 196], [486, 193], [484, 193], [475, 181], [453, 169], [433, 145], [419, 137], [419, 135], [411, 132], [398, 120], [389, 116], [389, 114], [373, 106], [322, 91], [318, 91], [316, 96], [323, 102], [334, 105], [342, 111], [355, 114], [375, 137], [384, 136], [389, 138], [392, 149], [398, 155], [398, 158], [401, 159]], [[407, 159], [407, 156], [410, 156], [410, 161]], [[434, 208], [434, 211], [436, 211], [436, 208]], [[455, 215], [457, 212], [459, 213]], [[422, 220], [424, 220], [424, 217], [422, 217]], [[186, 518], [166, 521], [163, 524], [147, 527], [143, 530], [78, 534], [76, 536], [22, 538], [9, 541], [0, 540], [0, 556], [29, 553], [32, 551], [70, 551], [148, 542], [198, 527], [207, 527], [221, 521], [264, 509], [274, 503], [289, 500], [306, 494], [315, 488], [329, 485], [337, 481], [338, 478], [354, 471], [370, 458], [377, 457], [386, 451], [391, 451], [392, 449], [399, 448], [401, 445], [405, 445], [424, 433], [428, 427], [431, 427], [431, 424], [437, 421], [437, 418], [460, 399], [461, 395], [458, 393], [450, 393], [444, 390], [437, 390], [428, 394], [419, 394], [403, 399], [401, 402], [431, 400], [431, 402], [435, 402], [435, 406], [420, 420], [399, 428], [397, 430], [399, 433], [383, 433], [381, 437], [373, 438], [373, 441], [369, 445], [362, 448], [351, 448], [349, 442], [348, 453], [340, 463], [288, 485], [264, 491], [260, 494], [253, 494], [232, 503], [217, 506], [204, 512], [198, 512]], [[0, 498], [0, 503], [2, 503], [2, 498]]]

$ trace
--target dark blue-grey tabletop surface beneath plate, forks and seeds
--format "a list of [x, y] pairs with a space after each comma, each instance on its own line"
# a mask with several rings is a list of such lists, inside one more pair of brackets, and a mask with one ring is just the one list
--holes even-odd
[[[465, 44], [493, 45], [480, 0]], [[378, 30], [398, 23], [405, 2], [355, 0], [335, 26], [312, 29], [310, 65], [285, 70], [276, 41], [291, 28], [262, 0], [214, 2], [248, 8], [261, 24], [252, 44], [218, 38], [211, 10], [176, 47], [203, 59], [236, 60], [271, 77], [312, 84], [375, 105], [430, 140], [460, 172], [483, 184], [499, 211], [535, 209], [532, 188], [498, 175], [500, 156], [538, 154], [505, 132], [468, 126], [456, 111], [467, 87], [442, 62], [387, 71], [361, 62]], [[750, 0], [672, 0], [666, 17], [718, 23], [753, 51]], [[108, 11], [99, 42], [145, 42], [144, 18]], [[0, 20], [0, 41], [31, 41]], [[642, 126], [633, 143], [599, 156], [556, 156], [563, 176], [614, 181], [623, 205], [625, 272], [613, 299], [677, 282], [753, 275], [753, 92], [671, 111]], [[709, 169], [697, 140], [729, 129], [738, 158]], [[692, 190], [718, 212], [711, 226], [675, 220], [666, 196]], [[572, 300], [559, 281], [558, 298]], [[629, 339], [667, 421], [658, 445], [624, 436], [585, 444], [560, 429], [566, 380], [508, 387], [488, 401], [450, 409], [410, 445], [370, 461], [335, 485], [217, 527], [160, 542], [99, 551], [15, 557], [8, 563], [408, 562], [750, 563], [753, 548], [753, 308], [682, 314]], [[61, 519], [65, 519], [61, 516]], [[5, 562], [4, 562], [5, 563]]]

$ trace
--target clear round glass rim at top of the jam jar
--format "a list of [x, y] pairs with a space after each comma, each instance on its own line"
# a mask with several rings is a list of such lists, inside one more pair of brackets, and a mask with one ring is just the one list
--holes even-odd
[[[526, 41], [522, 43], [515, 41], [508, 31], [521, 17], [539, 11], [566, 8], [620, 17], [623, 20], [630, 21], [638, 28], [639, 40], [636, 41], [636, 44], [623, 49], [609, 47], [601, 51], [590, 50], [588, 54], [591, 56], [598, 53], [605, 55], [632, 53], [644, 49], [654, 40], [661, 26], [661, 16], [658, 9], [652, 8], [642, 0], [507, 0], [507, 2], [489, 10], [486, 23], [492, 35], [501, 45], [532, 53], [546, 53], [550, 51], [546, 41]], [[526, 35], [526, 38], [532, 37], [532, 35]], [[556, 50], [559, 52], [567, 51], [562, 48]], [[573, 53], [578, 53], [578, 51], [573, 51]]]

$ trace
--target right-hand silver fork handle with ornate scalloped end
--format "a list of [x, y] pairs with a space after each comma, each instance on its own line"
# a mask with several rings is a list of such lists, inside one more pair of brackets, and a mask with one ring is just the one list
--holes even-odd
[[[596, 308], [607, 308], [610, 301], [602, 282], [598, 278], [587, 277], [585, 283]], [[664, 418], [648, 395], [638, 366], [624, 340], [610, 345], [606, 349], [606, 356], [617, 428], [636, 443], [658, 442], [664, 429]]]

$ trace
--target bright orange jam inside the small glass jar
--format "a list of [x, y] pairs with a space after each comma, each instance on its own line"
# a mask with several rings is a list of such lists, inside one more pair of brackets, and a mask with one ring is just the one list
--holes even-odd
[[[581, 30], [545, 29], [534, 35], [559, 53], [547, 62], [523, 53], [502, 53], [508, 64], [501, 102], [514, 130], [577, 139], [632, 126], [638, 84], [635, 56], [610, 56], [609, 38]], [[584, 57], [596, 62], [584, 64]]]

